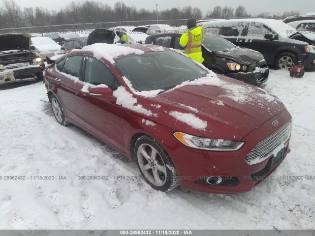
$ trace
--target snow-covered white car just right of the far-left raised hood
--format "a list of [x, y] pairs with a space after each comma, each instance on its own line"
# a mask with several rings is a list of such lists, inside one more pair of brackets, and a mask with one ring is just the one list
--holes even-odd
[[48, 37], [32, 37], [31, 44], [35, 47], [33, 51], [38, 53], [44, 60], [48, 54], [61, 50], [61, 46]]

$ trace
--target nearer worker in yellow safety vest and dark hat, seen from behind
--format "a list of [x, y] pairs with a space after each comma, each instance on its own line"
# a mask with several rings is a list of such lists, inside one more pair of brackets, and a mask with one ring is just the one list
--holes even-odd
[[185, 54], [200, 63], [203, 62], [201, 44], [203, 42], [204, 27], [196, 26], [196, 19], [190, 18], [187, 21], [187, 31], [181, 36], [179, 46], [185, 48]]

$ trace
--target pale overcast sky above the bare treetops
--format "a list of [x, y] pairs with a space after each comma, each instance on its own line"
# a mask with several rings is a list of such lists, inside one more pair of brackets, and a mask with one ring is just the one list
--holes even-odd
[[[30, 6], [41, 6], [49, 10], [59, 10], [66, 6], [73, 0], [15, 0], [22, 8]], [[111, 6], [116, 2], [115, 0], [99, 0]], [[307, 12], [315, 12], [315, 0], [124, 0], [128, 6], [135, 6], [139, 8], [156, 9], [158, 3], [158, 10], [183, 7], [191, 5], [192, 7], [199, 7], [205, 14], [208, 10], [213, 9], [214, 6], [231, 6], [244, 5], [247, 12], [251, 14], [258, 14], [261, 12], [283, 13], [284, 11], [299, 10], [301, 14]]]

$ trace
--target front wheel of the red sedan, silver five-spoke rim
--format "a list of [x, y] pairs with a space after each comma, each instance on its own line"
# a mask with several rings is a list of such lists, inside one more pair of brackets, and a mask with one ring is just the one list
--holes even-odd
[[141, 136], [133, 152], [142, 177], [154, 189], [167, 192], [179, 185], [171, 158], [156, 140], [147, 135]]

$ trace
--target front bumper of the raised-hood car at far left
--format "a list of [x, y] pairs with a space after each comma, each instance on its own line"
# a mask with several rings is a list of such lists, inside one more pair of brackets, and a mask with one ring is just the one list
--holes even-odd
[[[2, 69], [2, 70], [1, 70]], [[0, 68], [0, 85], [15, 82], [33, 81], [37, 73], [44, 70], [44, 65], [30, 65], [29, 63], [19, 63]]]

